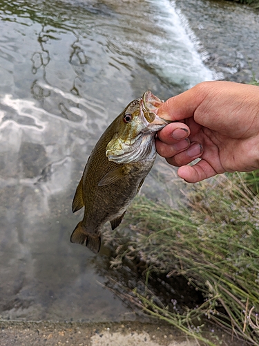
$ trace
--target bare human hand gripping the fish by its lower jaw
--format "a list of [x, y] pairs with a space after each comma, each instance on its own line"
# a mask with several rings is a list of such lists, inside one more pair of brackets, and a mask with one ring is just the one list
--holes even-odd
[[[178, 175], [185, 181], [259, 168], [258, 86], [202, 82], [169, 98], [157, 114], [180, 121], [158, 133], [156, 148], [168, 163], [180, 167]], [[188, 165], [195, 158], [200, 161]]]

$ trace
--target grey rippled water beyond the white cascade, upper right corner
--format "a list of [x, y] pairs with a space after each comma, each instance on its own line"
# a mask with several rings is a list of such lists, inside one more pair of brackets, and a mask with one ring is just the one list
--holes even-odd
[[175, 1], [177, 12], [198, 38], [197, 48], [215, 77], [232, 82], [259, 80], [258, 10], [225, 0]]

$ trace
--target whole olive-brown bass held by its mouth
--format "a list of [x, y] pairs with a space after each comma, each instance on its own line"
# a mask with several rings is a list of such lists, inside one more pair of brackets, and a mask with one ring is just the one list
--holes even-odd
[[84, 217], [70, 242], [99, 253], [104, 224], [110, 221], [114, 230], [121, 223], [155, 162], [155, 134], [171, 122], [155, 113], [163, 102], [146, 91], [99, 138], [73, 199], [73, 212], [84, 207]]

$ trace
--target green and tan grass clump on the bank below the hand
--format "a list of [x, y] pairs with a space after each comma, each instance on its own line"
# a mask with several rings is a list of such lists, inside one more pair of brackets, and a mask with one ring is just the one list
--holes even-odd
[[207, 345], [214, 345], [201, 333], [207, 318], [259, 344], [258, 181], [259, 173], [253, 172], [199, 183], [178, 210], [143, 196], [135, 200], [126, 216], [134, 232], [117, 233], [113, 265], [125, 258], [144, 262], [146, 282], [151, 273], [183, 275], [204, 298], [199, 306], [179, 312], [172, 302], [158, 302], [148, 289], [146, 294], [135, 289], [144, 311]]

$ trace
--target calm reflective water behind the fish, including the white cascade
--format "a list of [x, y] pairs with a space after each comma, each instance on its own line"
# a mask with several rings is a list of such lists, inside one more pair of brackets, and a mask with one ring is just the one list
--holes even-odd
[[70, 244], [73, 194], [128, 102], [213, 75], [167, 0], [1, 0], [0, 19], [0, 315], [133, 319], [102, 286], [108, 250]]

